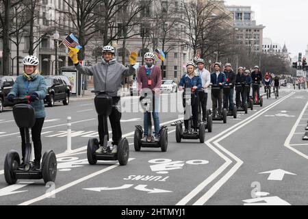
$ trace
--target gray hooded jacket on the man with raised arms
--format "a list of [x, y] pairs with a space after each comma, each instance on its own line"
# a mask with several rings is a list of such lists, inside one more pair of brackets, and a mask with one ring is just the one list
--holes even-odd
[[110, 96], [120, 96], [121, 82], [123, 77], [128, 77], [136, 72], [133, 66], [123, 66], [116, 59], [86, 67], [81, 64], [75, 65], [76, 69], [85, 75], [93, 75], [94, 90], [109, 91]]

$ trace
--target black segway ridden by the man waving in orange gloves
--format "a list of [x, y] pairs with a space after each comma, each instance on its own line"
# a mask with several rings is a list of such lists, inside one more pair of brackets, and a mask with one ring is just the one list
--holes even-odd
[[103, 137], [103, 142], [101, 142], [103, 146], [103, 153], [95, 153], [95, 151], [99, 149], [99, 140], [97, 140], [97, 138], [89, 139], [87, 149], [88, 162], [90, 165], [95, 165], [98, 160], [118, 160], [120, 166], [125, 166], [129, 159], [129, 144], [127, 139], [120, 138], [118, 141], [118, 153], [112, 153], [110, 146], [107, 146], [107, 142], [109, 140], [107, 117], [112, 113], [112, 107], [116, 107], [116, 105], [113, 105], [112, 96], [108, 95], [111, 92], [98, 90], [93, 90], [92, 92], [97, 94], [94, 98], [94, 105], [97, 110], [97, 114], [103, 116], [103, 130], [105, 132], [105, 136]]

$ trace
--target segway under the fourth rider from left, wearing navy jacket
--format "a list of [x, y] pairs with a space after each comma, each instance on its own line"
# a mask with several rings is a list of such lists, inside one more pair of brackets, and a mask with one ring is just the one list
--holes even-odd
[[[189, 117], [188, 120], [188, 133], [183, 133], [183, 122], [179, 122], [175, 128], [175, 138], [177, 143], [180, 143], [182, 139], [200, 140], [200, 143], [205, 142], [205, 124], [198, 119], [199, 123], [196, 127], [197, 133], [192, 133], [192, 105], [195, 101], [195, 90], [192, 88], [191, 92], [186, 94], [186, 89], [183, 92], [183, 107], [185, 109], [185, 116]], [[201, 121], [201, 122], [200, 122]]]

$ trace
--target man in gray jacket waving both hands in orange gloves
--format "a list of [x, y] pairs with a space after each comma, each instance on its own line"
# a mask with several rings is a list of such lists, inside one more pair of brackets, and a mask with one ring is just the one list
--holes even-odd
[[[90, 67], [81, 66], [81, 64], [79, 64], [75, 51], [70, 50], [68, 55], [79, 73], [93, 75], [94, 90], [110, 92], [109, 94], [112, 96], [113, 105], [117, 105], [118, 101], [120, 101], [120, 88], [123, 77], [134, 75], [136, 72], [136, 66], [134, 65], [136, 64], [137, 54], [132, 53], [129, 55], [129, 63], [131, 66], [127, 68], [116, 61], [114, 53], [115, 50], [113, 47], [104, 47], [101, 63]], [[118, 140], [122, 138], [120, 126], [121, 116], [121, 112], [119, 112], [116, 107], [112, 107], [112, 113], [109, 116], [112, 127], [112, 153], [117, 153]], [[103, 117], [99, 116], [99, 140], [101, 146], [97, 149], [96, 153], [103, 153], [103, 139], [107, 132], [108, 130], [103, 129]]]

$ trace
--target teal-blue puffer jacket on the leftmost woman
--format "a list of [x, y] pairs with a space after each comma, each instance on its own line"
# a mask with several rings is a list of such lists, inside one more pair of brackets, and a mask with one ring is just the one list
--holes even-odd
[[18, 76], [10, 94], [14, 97], [24, 97], [31, 94], [38, 94], [39, 101], [34, 101], [31, 106], [34, 107], [36, 118], [45, 118], [44, 99], [47, 92], [47, 85], [44, 77], [38, 75], [32, 81], [27, 81], [23, 75]]

